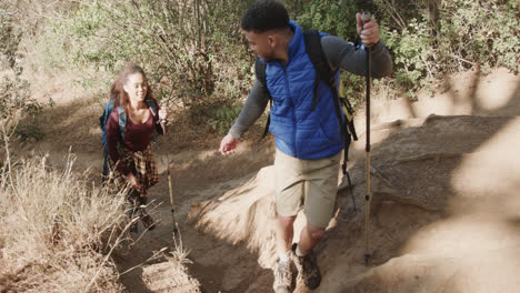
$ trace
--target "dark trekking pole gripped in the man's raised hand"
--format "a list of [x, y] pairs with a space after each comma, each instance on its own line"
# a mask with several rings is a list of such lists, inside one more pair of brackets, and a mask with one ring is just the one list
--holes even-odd
[[[363, 12], [361, 14], [361, 20], [364, 23], [370, 21], [371, 16], [370, 12]], [[361, 29], [362, 30], [362, 29]], [[369, 242], [369, 236], [370, 236], [370, 229], [369, 229], [369, 223], [370, 223], [370, 80], [372, 77], [372, 48], [369, 46], [364, 46], [364, 51], [366, 51], [366, 60], [367, 60], [367, 72], [366, 72], [366, 79], [367, 79], [367, 145], [364, 148], [364, 151], [367, 152], [367, 165], [366, 165], [366, 172], [367, 172], [367, 194], [364, 195], [364, 265], [368, 265], [368, 262], [370, 257], [372, 256], [369, 252], [370, 249], [370, 242]]]

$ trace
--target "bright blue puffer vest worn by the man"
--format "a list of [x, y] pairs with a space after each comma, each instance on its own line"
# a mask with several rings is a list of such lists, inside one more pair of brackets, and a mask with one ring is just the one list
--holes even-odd
[[306, 52], [302, 29], [292, 20], [289, 24], [294, 36], [288, 63], [283, 67], [272, 61], [266, 68], [267, 88], [273, 99], [269, 131], [276, 137], [277, 148], [288, 155], [328, 158], [343, 149], [332, 92], [321, 81], [319, 102], [312, 111], [316, 70]]

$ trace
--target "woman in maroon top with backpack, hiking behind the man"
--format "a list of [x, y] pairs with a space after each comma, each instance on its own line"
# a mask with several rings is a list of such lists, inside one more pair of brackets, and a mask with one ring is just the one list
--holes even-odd
[[[159, 109], [144, 71], [136, 64], [119, 73], [110, 90], [110, 99], [114, 103], [107, 123], [111, 178], [119, 189], [130, 188], [128, 198], [132, 203], [132, 215], [138, 214], [144, 228], [153, 230], [153, 220], [144, 210], [148, 190], [159, 182], [150, 142], [153, 131], [160, 134], [167, 131], [168, 112]], [[137, 223], [131, 231], [137, 232]]]

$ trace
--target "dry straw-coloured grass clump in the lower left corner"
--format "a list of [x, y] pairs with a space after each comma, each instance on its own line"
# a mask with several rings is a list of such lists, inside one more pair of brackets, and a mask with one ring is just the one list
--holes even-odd
[[124, 195], [91, 186], [70, 154], [57, 170], [47, 158], [12, 162], [3, 149], [0, 292], [122, 291], [110, 254], [127, 229]]

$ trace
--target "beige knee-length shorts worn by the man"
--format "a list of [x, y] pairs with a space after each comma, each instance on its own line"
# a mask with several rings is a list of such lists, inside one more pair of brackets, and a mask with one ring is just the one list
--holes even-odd
[[309, 223], [327, 228], [336, 203], [340, 160], [341, 152], [324, 159], [301, 160], [277, 149], [274, 180], [278, 214], [293, 216], [303, 206]]

